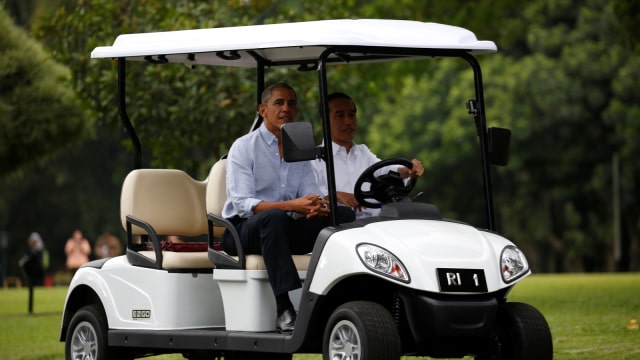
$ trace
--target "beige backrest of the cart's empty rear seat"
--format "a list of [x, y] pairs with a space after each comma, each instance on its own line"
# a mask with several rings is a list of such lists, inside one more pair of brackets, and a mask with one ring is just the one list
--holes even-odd
[[[120, 220], [127, 215], [148, 222], [158, 235], [199, 236], [207, 233], [206, 182], [174, 169], [137, 169], [124, 180]], [[132, 226], [133, 235], [146, 234]]]

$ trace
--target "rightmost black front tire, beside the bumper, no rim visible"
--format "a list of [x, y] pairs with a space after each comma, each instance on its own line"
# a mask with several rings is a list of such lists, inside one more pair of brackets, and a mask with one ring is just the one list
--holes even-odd
[[547, 320], [529, 304], [502, 304], [498, 309], [498, 331], [492, 349], [476, 359], [553, 359], [553, 340]]

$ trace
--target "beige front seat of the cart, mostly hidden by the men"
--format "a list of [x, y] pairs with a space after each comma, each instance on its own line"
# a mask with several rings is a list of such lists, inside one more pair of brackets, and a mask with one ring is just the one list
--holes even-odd
[[[206, 208], [207, 214], [213, 218], [222, 219], [222, 207], [227, 200], [227, 181], [226, 181], [226, 159], [218, 160], [209, 172], [207, 178], [207, 191], [206, 191]], [[218, 230], [216, 230], [216, 228]], [[224, 231], [223, 227], [214, 226], [214, 233], [221, 233]], [[209, 250], [212, 251], [212, 250]], [[223, 252], [220, 252], [223, 253]], [[227, 256], [223, 253], [224, 256]], [[240, 262], [238, 256], [232, 256], [236, 261]], [[309, 260], [311, 255], [293, 255], [293, 262], [296, 265], [298, 271], [307, 270], [309, 267]], [[264, 260], [261, 255], [249, 254], [245, 256], [244, 266], [247, 270], [266, 270]]]

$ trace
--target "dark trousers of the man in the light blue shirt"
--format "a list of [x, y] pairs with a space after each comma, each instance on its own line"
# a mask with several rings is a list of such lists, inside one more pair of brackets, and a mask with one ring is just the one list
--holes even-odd
[[[355, 213], [345, 206], [338, 206], [336, 220], [339, 224], [351, 222], [355, 220]], [[311, 252], [318, 233], [329, 224], [329, 218], [293, 219], [285, 211], [270, 209], [249, 219], [236, 220], [234, 224], [245, 253], [262, 255], [271, 289], [278, 296], [302, 286], [291, 255]], [[237, 254], [228, 231], [224, 232], [222, 246], [225, 252]]]

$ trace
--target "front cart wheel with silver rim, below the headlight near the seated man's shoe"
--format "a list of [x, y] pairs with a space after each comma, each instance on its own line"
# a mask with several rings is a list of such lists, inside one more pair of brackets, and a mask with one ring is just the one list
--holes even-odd
[[339, 306], [327, 322], [322, 341], [324, 360], [400, 359], [398, 327], [387, 309], [368, 301]]

